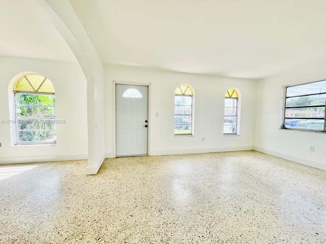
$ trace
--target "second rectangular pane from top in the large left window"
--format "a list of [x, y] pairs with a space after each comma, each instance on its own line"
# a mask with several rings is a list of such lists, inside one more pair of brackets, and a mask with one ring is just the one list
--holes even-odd
[[55, 107], [43, 107], [43, 106], [17, 106], [17, 117], [55, 117]]

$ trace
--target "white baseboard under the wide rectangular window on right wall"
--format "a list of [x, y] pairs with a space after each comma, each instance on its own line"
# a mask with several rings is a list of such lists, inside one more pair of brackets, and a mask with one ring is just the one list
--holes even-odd
[[268, 154], [271, 156], [275, 156], [281, 159], [286, 159], [286, 160], [290, 160], [296, 163], [300, 163], [300, 164], [304, 164], [304, 165], [308, 165], [317, 169], [322, 169], [322, 170], [326, 170], [326, 164], [322, 163], [322, 162], [318, 162], [318, 161], [314, 161], [314, 160], [310, 160], [310, 159], [305, 159], [305, 158], [300, 158], [300, 157], [296, 157], [293, 155], [288, 155], [288, 154], [283, 154], [280, 153], [279, 151], [274, 151], [274, 150], [269, 150], [263, 147], [259, 147], [259, 146], [254, 146], [254, 150], [255, 151], [260, 151], [261, 153], [264, 154]]

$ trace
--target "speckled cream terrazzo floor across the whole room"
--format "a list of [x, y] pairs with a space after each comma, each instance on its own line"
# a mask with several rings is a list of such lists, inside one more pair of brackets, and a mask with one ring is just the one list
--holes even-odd
[[326, 243], [326, 171], [256, 151], [86, 166], [0, 165], [0, 243]]

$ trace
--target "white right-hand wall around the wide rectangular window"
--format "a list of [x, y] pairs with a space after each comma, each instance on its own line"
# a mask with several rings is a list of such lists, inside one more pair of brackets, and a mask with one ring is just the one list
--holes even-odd
[[[254, 149], [294, 162], [326, 169], [326, 134], [280, 130], [284, 86], [326, 78], [326, 60], [258, 81]], [[310, 151], [309, 146], [315, 146]]]

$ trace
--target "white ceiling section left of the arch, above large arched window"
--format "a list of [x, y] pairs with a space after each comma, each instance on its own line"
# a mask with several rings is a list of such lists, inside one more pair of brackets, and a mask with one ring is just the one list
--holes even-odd
[[77, 62], [33, 0], [0, 0], [0, 30], [0, 55]]

